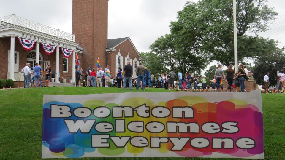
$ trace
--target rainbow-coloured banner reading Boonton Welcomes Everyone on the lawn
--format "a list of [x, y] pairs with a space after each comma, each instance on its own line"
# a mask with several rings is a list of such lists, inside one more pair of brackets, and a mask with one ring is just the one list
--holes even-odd
[[263, 159], [259, 90], [44, 95], [42, 158]]

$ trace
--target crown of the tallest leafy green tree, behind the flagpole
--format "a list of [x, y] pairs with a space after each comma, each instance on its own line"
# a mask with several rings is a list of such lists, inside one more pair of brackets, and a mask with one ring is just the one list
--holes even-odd
[[[264, 38], [245, 35], [246, 31], [266, 31], [268, 24], [278, 15], [266, 2], [236, 0], [239, 60], [258, 57], [270, 45], [270, 41]], [[180, 35], [177, 41], [182, 42], [181, 45], [191, 44], [201, 55], [210, 56], [209, 60], [217, 60], [228, 66], [234, 62], [232, 10], [232, 0], [187, 2], [183, 10], [178, 12], [178, 21], [171, 22], [171, 33]]]

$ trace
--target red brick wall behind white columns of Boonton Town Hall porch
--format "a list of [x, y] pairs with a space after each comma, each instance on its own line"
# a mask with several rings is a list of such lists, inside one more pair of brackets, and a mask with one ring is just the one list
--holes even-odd
[[[8, 50], [10, 50], [10, 37], [0, 38], [0, 56], [2, 57], [3, 62], [0, 64], [0, 79], [7, 79], [8, 72]], [[32, 51], [35, 51], [36, 46]], [[15, 37], [15, 51], [19, 52], [19, 68], [18, 71], [21, 71], [26, 66], [27, 63], [27, 55], [30, 51], [26, 51], [18, 41], [17, 37]], [[56, 51], [54, 51], [51, 55], [46, 55], [41, 47], [39, 46], [39, 52], [41, 53], [44, 61], [50, 61], [50, 68], [52, 71], [56, 69]], [[82, 59], [82, 55], [78, 54], [78, 59]], [[59, 49], [59, 73], [62, 77], [72, 77], [72, 56], [68, 59], [68, 73], [63, 73], [63, 53]], [[81, 66], [80, 66], [81, 67]], [[17, 72], [17, 71], [15, 71]], [[9, 78], [9, 77], [8, 77]], [[16, 85], [15, 85], [16, 86]]]

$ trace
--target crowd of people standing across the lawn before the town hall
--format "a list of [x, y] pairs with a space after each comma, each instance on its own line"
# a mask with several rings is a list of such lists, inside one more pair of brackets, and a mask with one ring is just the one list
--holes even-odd
[[[162, 73], [158, 77], [154, 76], [153, 73], [150, 73], [147, 67], [142, 65], [142, 62], [139, 62], [139, 65], [136, 68], [137, 78], [134, 78], [132, 75], [132, 65], [130, 61], [127, 61], [127, 65], [124, 68], [118, 67], [116, 76], [111, 77], [112, 72], [110, 72], [110, 65], [107, 65], [105, 70], [102, 68], [93, 68], [89, 65], [86, 72], [83, 72], [82, 68], [76, 68], [76, 86], [80, 87], [81, 83], [85, 81], [85, 86], [87, 87], [118, 87], [131, 90], [132, 87], [136, 87], [136, 90], [141, 88], [164, 88], [168, 90], [181, 90], [181, 91], [198, 91], [198, 89], [211, 89], [211, 90], [223, 90], [223, 81], [227, 79], [228, 88], [226, 89], [229, 92], [236, 92], [241, 90], [241, 92], [246, 92], [245, 81], [249, 79], [249, 72], [245, 65], [240, 64], [238, 71], [233, 70], [233, 66], [229, 65], [227, 70], [222, 69], [222, 65], [218, 65], [218, 69], [213, 75], [213, 79], [210, 80], [210, 84], [213, 87], [207, 85], [206, 76], [197, 77], [194, 73], [186, 73], [182, 75], [181, 72], [177, 74], [171, 69], [169, 73]], [[23, 68], [24, 78], [25, 78], [25, 88], [29, 88], [31, 82], [31, 75], [34, 75], [32, 80], [34, 81], [34, 87], [49, 87], [51, 79], [51, 68], [47, 65], [45, 71], [42, 70], [42, 66], [38, 63], [35, 63], [33, 68], [34, 72], [31, 72], [30, 63], [27, 63]], [[43, 84], [43, 73], [45, 73], [45, 84]], [[199, 79], [198, 79], [199, 78]], [[178, 79], [178, 84], [175, 86], [174, 81]], [[200, 82], [199, 82], [200, 80]], [[202, 84], [202, 88], [198, 88], [198, 84]], [[269, 73], [266, 72], [264, 76], [263, 89], [264, 92], [268, 92], [269, 89]], [[194, 87], [194, 89], [192, 88]], [[278, 85], [276, 91], [284, 92], [285, 90], [285, 71], [284, 69], [278, 74]]]

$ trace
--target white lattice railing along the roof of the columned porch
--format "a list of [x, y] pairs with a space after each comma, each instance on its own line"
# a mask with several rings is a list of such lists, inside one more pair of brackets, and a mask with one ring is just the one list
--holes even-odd
[[45, 33], [58, 38], [66, 39], [75, 42], [75, 35], [60, 31], [59, 29], [49, 27], [31, 20], [16, 16], [15, 14], [0, 17], [0, 27], [4, 25], [18, 25], [21, 27], [29, 28], [34, 31]]

